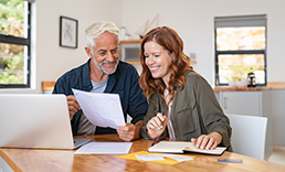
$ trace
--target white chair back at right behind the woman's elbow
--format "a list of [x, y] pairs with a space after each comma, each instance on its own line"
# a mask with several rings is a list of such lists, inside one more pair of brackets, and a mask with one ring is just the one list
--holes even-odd
[[226, 115], [232, 127], [233, 152], [264, 160], [266, 117]]

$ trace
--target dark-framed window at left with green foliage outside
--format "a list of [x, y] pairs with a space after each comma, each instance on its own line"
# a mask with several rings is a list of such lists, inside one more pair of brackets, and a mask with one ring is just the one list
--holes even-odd
[[30, 12], [23, 0], [0, 0], [0, 88], [30, 87]]

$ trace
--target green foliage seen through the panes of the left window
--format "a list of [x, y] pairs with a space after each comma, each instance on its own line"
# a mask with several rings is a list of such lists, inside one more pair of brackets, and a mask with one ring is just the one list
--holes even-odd
[[[0, 0], [0, 34], [24, 36], [24, 1]], [[0, 84], [23, 83], [23, 46], [0, 43]]]

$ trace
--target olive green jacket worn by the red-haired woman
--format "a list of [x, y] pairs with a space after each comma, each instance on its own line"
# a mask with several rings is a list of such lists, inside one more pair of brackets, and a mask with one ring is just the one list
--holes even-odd
[[[213, 131], [221, 133], [222, 142], [219, 146], [231, 148], [232, 129], [229, 118], [223, 114], [212, 87], [208, 82], [194, 72], [184, 74], [186, 85], [180, 90], [176, 86], [176, 95], [172, 101], [170, 120], [175, 130], [176, 139], [190, 141], [201, 135], [209, 135]], [[167, 106], [162, 98], [156, 93], [149, 101], [147, 115], [144, 118], [141, 136], [144, 139], [151, 139], [147, 133], [147, 122], [157, 112], [166, 115]], [[160, 136], [160, 139], [168, 137], [168, 129]]]

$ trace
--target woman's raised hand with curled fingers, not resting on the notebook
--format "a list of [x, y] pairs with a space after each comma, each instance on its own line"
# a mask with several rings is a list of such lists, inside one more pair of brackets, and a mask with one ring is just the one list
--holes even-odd
[[167, 117], [161, 112], [158, 112], [157, 116], [152, 117], [147, 122], [148, 136], [152, 139], [157, 139], [166, 129]]

